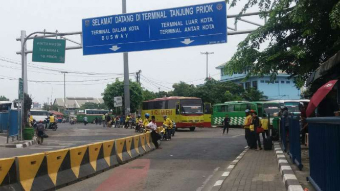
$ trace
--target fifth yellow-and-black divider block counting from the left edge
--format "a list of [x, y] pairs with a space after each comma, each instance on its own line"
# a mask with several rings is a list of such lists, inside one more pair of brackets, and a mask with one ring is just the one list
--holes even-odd
[[89, 144], [88, 146], [88, 154], [89, 154], [89, 162], [92, 168], [97, 172], [102, 172], [108, 169], [110, 166], [104, 159], [103, 152], [103, 143], [97, 142], [94, 144]]

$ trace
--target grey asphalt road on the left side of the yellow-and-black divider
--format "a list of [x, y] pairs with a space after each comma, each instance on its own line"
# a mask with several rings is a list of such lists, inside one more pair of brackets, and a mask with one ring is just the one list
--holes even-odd
[[88, 124], [58, 124], [57, 131], [48, 130], [49, 138], [44, 138], [42, 145], [33, 145], [27, 148], [4, 148], [0, 147], [0, 158], [13, 157], [53, 151], [58, 149], [76, 147], [93, 142], [127, 137], [138, 133], [134, 129], [104, 128], [102, 125]]

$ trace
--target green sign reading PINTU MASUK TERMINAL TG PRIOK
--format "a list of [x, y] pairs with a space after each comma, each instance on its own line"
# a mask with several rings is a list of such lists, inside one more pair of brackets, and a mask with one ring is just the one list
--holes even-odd
[[32, 62], [65, 63], [66, 40], [34, 38]]

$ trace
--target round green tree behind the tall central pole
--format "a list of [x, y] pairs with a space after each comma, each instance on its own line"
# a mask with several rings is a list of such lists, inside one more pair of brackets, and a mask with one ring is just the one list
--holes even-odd
[[[114, 109], [114, 97], [123, 97], [123, 108], [124, 108], [124, 81], [119, 81], [112, 84], [107, 84], [104, 92], [101, 94], [106, 106], [109, 109]], [[139, 109], [143, 101], [143, 89], [137, 82], [130, 81], [130, 110], [135, 112]]]

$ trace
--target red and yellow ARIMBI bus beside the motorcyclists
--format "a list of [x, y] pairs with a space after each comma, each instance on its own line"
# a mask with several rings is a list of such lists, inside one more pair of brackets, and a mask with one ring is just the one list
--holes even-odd
[[145, 113], [156, 117], [157, 126], [162, 126], [163, 115], [167, 115], [176, 123], [176, 128], [189, 128], [194, 131], [196, 127], [203, 127], [203, 104], [200, 98], [168, 97], [144, 101], [142, 104], [142, 117]]

